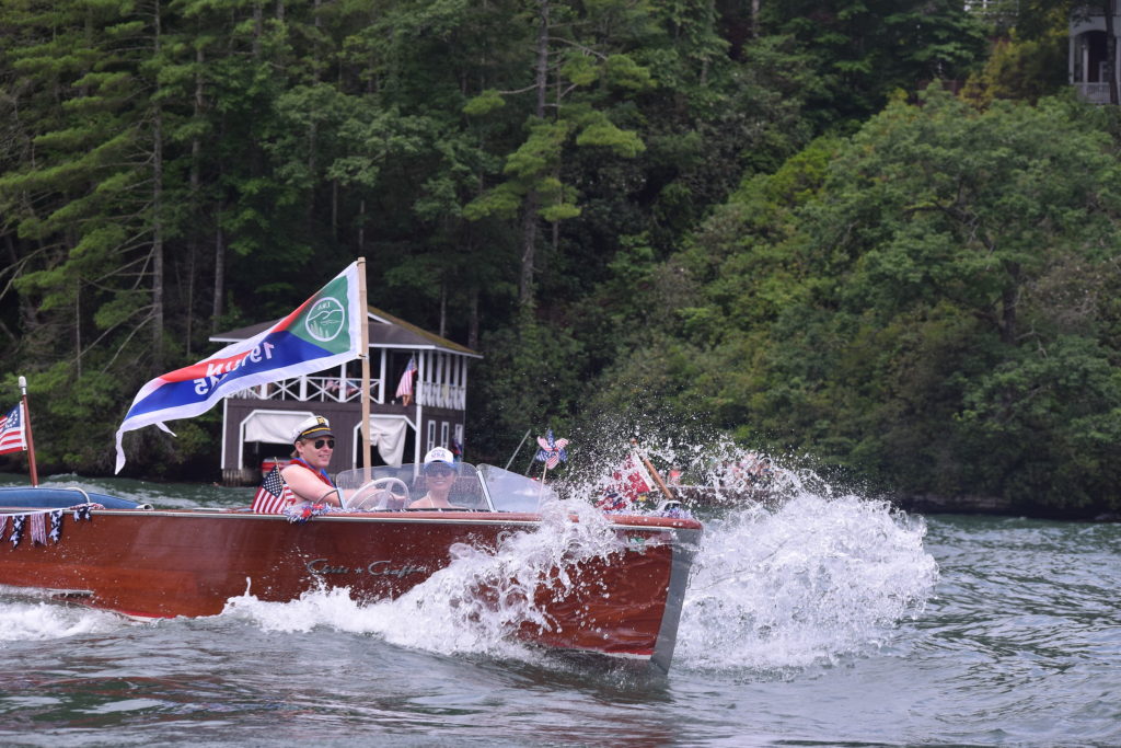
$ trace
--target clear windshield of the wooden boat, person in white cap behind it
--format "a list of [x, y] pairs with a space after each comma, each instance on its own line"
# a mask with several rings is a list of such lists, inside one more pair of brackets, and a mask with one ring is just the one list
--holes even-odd
[[[458, 462], [453, 467], [406, 463], [344, 470], [335, 477], [348, 509], [363, 511], [537, 511], [554, 497], [535, 480], [495, 468]], [[451, 475], [441, 474], [452, 470]]]

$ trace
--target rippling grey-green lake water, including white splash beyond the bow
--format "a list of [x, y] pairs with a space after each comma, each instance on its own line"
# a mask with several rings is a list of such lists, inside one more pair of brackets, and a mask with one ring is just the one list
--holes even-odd
[[[252, 492], [78, 482], [161, 507]], [[703, 519], [666, 677], [452, 636], [446, 583], [158, 622], [9, 590], [0, 744], [1121, 745], [1121, 526], [809, 491]]]

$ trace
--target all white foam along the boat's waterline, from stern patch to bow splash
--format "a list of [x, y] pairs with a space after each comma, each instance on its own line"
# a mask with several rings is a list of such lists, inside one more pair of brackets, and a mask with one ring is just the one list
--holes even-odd
[[[759, 673], [828, 665], [876, 652], [900, 622], [921, 615], [938, 579], [923, 546], [924, 520], [883, 501], [839, 495], [809, 473], [787, 474], [796, 480], [785, 483], [780, 500], [705, 509], [675, 668]], [[228, 602], [221, 619], [278, 632], [325, 627], [442, 655], [536, 664], [541, 650], [515, 635], [553, 625], [535, 601], [537, 580], [558, 569], [553, 589], [571, 591], [578, 564], [620, 548], [609, 519], [590, 502], [554, 501], [538, 529], [512, 533], [497, 548], [453, 545], [447, 567], [396, 600], [358, 603], [333, 589], [265, 602], [249, 590]], [[0, 645], [98, 634], [123, 620], [46, 599], [26, 602], [0, 589]]]

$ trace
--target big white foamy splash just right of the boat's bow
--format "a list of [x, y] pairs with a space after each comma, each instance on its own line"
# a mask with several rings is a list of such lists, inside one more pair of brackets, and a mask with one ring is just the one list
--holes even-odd
[[926, 526], [887, 502], [808, 492], [705, 527], [675, 662], [775, 669], [873, 649], [938, 579]]

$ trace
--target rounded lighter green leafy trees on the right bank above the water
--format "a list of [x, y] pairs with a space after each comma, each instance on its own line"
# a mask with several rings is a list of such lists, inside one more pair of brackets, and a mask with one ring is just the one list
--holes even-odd
[[695, 373], [669, 378], [744, 437], [897, 488], [1117, 506], [1104, 116], [932, 91], [745, 181], [671, 260], [697, 295], [664, 327]]

